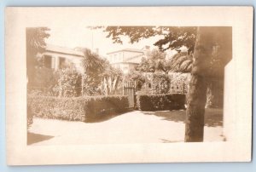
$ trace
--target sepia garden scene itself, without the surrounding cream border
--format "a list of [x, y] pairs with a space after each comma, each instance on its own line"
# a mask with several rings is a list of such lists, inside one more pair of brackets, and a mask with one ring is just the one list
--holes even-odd
[[225, 141], [232, 27], [70, 22], [26, 28], [27, 145]]

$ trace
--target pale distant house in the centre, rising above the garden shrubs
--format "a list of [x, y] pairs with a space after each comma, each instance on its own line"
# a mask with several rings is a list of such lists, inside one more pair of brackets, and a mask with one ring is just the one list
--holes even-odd
[[108, 61], [113, 67], [121, 69], [124, 73], [131, 72], [146, 57], [149, 46], [143, 49], [120, 49], [108, 53]]

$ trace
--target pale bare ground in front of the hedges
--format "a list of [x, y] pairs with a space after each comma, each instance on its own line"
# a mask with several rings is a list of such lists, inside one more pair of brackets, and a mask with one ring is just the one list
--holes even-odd
[[[34, 118], [28, 144], [122, 144], [181, 142], [185, 111], [126, 112], [94, 123]], [[207, 109], [204, 141], [222, 141], [222, 110]]]

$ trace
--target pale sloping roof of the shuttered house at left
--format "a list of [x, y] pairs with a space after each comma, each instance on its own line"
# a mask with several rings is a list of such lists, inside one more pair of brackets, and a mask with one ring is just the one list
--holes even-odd
[[51, 51], [51, 52], [56, 52], [56, 53], [61, 53], [61, 54], [72, 54], [72, 55], [77, 55], [77, 56], [84, 56], [84, 54], [80, 51], [53, 45], [53, 44], [47, 44], [46, 51]]

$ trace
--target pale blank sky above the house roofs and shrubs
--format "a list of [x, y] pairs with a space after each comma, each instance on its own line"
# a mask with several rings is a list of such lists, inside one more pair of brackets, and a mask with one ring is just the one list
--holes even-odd
[[[61, 47], [75, 48], [86, 47], [88, 49], [99, 49], [99, 54], [107, 56], [107, 53], [119, 49], [143, 49], [144, 46], [150, 46], [150, 49], [158, 49], [153, 44], [160, 39], [160, 36], [143, 39], [139, 43], [129, 43], [129, 39], [124, 37], [123, 44], [113, 43], [110, 37], [106, 37], [108, 32], [103, 29], [90, 30], [82, 22], [73, 21], [68, 26], [51, 23], [49, 26], [50, 37], [46, 43], [55, 44]], [[173, 54], [174, 52], [169, 52]]]

